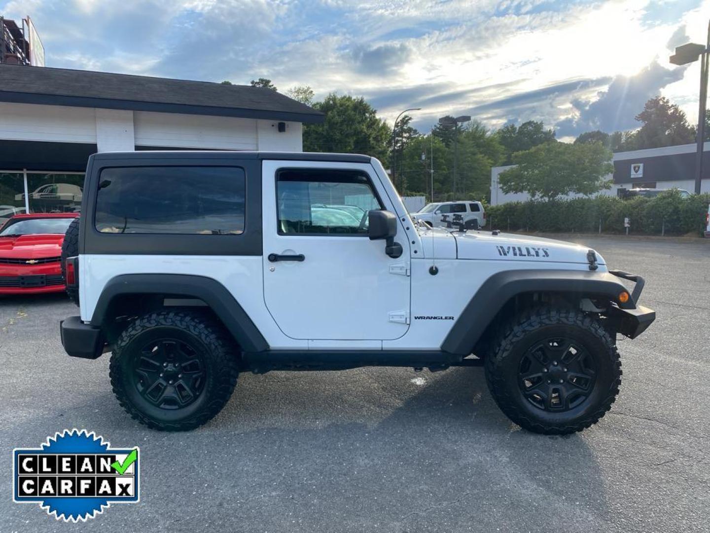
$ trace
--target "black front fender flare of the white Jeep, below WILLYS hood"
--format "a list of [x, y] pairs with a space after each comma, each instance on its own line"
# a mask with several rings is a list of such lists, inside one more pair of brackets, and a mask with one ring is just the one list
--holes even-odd
[[469, 355], [476, 342], [491, 324], [496, 313], [513, 296], [533, 292], [601, 296], [621, 308], [635, 308], [631, 299], [618, 302], [618, 294], [626, 291], [616, 276], [608, 272], [584, 270], [506, 270], [484, 281], [461, 312], [442, 343], [444, 352]]

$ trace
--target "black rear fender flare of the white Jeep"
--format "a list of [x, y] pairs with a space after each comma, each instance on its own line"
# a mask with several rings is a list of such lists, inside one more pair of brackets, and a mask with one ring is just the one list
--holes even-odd
[[261, 331], [224, 285], [216, 279], [194, 274], [121, 274], [115, 276], [104, 286], [96, 308], [94, 308], [91, 324], [102, 326], [114, 298], [128, 294], [165, 294], [166, 296], [199, 298], [207, 303], [217, 318], [224, 323], [242, 350], [262, 352], [269, 348]]

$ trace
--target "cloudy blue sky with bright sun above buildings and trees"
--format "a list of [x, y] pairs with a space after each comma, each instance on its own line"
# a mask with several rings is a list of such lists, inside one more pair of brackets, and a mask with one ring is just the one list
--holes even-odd
[[558, 139], [638, 127], [663, 95], [697, 121], [710, 0], [0, 0], [31, 16], [50, 67], [363, 96], [429, 131], [470, 114], [491, 129], [542, 120]]

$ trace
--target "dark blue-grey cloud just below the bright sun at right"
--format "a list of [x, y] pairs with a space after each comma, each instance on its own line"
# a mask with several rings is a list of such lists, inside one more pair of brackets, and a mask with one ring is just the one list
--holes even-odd
[[598, 93], [594, 101], [576, 99], [572, 102], [577, 113], [557, 122], [559, 136], [578, 135], [600, 129], [612, 131], [635, 129], [635, 116], [643, 111], [648, 99], [660, 95], [663, 87], [681, 80], [685, 68], [667, 69], [657, 61], [633, 76], [616, 76], [606, 91]]

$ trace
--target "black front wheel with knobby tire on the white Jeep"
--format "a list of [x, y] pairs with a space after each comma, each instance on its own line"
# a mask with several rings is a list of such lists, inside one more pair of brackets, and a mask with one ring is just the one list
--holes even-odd
[[562, 435], [601, 419], [616, 399], [621, 361], [595, 318], [537, 308], [513, 321], [486, 357], [498, 407], [528, 431]]

